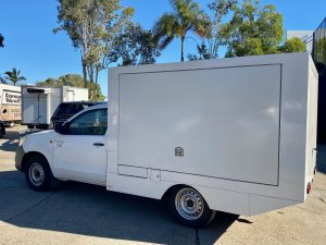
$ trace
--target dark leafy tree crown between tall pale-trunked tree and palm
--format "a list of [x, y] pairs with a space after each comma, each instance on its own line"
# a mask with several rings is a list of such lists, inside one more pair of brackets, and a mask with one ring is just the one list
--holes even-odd
[[130, 22], [115, 38], [110, 56], [112, 62], [122, 60], [120, 65], [151, 64], [160, 51], [152, 32]]

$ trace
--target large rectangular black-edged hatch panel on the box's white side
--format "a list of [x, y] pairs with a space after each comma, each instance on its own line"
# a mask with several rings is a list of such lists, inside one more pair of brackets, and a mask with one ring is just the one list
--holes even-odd
[[123, 74], [118, 164], [277, 185], [279, 103], [278, 64]]

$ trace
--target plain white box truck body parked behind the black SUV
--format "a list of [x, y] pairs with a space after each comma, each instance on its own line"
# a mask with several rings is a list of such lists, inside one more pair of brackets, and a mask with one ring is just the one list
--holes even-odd
[[61, 102], [87, 100], [87, 88], [22, 85], [22, 124], [48, 128], [51, 117]]

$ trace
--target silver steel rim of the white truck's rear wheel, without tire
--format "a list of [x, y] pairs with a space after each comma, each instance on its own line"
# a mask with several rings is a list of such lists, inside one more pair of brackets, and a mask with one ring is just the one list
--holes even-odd
[[187, 220], [199, 219], [204, 210], [202, 196], [192, 188], [181, 188], [175, 197], [177, 212]]

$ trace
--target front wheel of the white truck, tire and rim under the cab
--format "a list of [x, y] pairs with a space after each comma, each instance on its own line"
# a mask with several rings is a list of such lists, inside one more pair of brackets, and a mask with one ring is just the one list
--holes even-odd
[[47, 192], [51, 188], [51, 170], [48, 161], [41, 156], [35, 156], [27, 160], [25, 177], [28, 186], [37, 192]]

